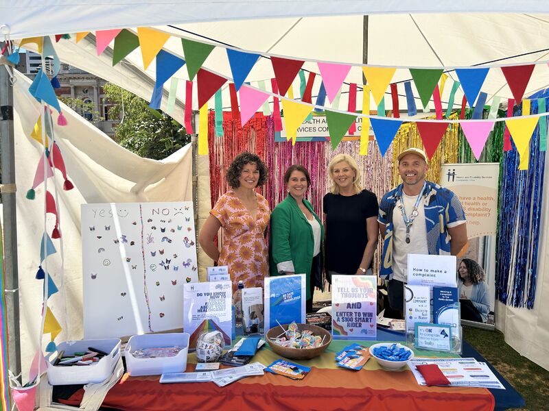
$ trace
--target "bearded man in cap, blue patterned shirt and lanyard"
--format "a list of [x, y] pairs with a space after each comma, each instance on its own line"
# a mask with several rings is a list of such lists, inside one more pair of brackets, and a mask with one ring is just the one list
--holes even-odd
[[408, 254], [455, 256], [467, 243], [465, 212], [456, 195], [425, 180], [427, 155], [410, 148], [398, 156], [402, 184], [379, 202], [384, 238], [379, 275], [389, 280], [390, 307], [404, 314]]

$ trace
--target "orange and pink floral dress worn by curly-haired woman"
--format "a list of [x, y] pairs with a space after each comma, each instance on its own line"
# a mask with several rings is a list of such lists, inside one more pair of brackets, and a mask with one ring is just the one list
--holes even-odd
[[263, 287], [263, 279], [269, 273], [268, 248], [264, 237], [270, 219], [269, 203], [262, 195], [255, 193], [255, 196], [255, 219], [233, 191], [222, 195], [210, 212], [223, 228], [218, 264], [229, 266], [233, 293], [241, 279], [246, 288]]

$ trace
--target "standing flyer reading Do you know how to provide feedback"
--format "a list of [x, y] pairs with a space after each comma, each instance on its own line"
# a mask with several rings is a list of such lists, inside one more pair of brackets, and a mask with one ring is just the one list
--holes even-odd
[[201, 332], [214, 330], [221, 332], [225, 345], [231, 345], [232, 299], [231, 282], [185, 284], [183, 331], [191, 335], [189, 349], [196, 348]]

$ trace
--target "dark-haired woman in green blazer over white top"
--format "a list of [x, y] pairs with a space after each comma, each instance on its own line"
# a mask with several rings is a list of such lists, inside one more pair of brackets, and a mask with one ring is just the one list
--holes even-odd
[[305, 200], [311, 177], [305, 167], [286, 170], [288, 197], [270, 216], [270, 275], [303, 274], [307, 279], [307, 312], [312, 312], [314, 287], [323, 288], [324, 227]]

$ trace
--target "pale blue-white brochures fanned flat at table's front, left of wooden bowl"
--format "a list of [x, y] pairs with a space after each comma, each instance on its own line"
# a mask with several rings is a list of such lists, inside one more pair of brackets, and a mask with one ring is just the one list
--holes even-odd
[[260, 362], [246, 364], [231, 369], [217, 371], [203, 371], [200, 373], [166, 373], [160, 377], [161, 384], [172, 384], [175, 382], [215, 382], [223, 387], [231, 382], [238, 381], [250, 375], [264, 375], [265, 366]]

